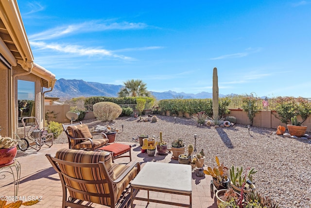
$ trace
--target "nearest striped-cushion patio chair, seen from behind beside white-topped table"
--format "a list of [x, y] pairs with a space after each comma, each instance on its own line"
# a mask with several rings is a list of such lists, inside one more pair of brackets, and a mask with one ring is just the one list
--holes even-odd
[[129, 204], [130, 182], [140, 170], [139, 163], [112, 163], [111, 154], [105, 151], [60, 149], [55, 157], [46, 156], [62, 183], [63, 208], [89, 207], [92, 203], [111, 208]]

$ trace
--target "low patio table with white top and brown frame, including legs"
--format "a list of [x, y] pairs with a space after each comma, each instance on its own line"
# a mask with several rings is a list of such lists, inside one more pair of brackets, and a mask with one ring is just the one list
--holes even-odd
[[[131, 183], [131, 207], [133, 201], [141, 200], [161, 204], [168, 204], [180, 207], [192, 207], [192, 172], [190, 165], [147, 162], [139, 171]], [[148, 198], [134, 196], [134, 189], [147, 190]], [[158, 199], [150, 199], [149, 191], [187, 195], [190, 197], [189, 204], [168, 202]]]

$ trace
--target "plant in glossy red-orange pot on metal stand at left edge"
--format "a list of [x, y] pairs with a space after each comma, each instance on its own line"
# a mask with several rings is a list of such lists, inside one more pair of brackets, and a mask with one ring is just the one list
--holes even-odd
[[0, 166], [14, 163], [17, 154], [17, 141], [10, 137], [0, 136]]

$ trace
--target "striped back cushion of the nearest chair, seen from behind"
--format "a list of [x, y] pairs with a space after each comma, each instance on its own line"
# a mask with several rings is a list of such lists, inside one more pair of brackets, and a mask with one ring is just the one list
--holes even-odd
[[[56, 152], [55, 158], [67, 162], [80, 164], [80, 166], [76, 166], [75, 164], [70, 165], [62, 163], [58, 164], [62, 173], [72, 178], [72, 179], [67, 177], [64, 178], [67, 186], [76, 190], [82, 190], [91, 193], [102, 193], [102, 194], [110, 193], [107, 181], [103, 183], [94, 183], [94, 181], [105, 180], [104, 174], [103, 172], [101, 172], [98, 165], [99, 161], [104, 162], [105, 167], [108, 171], [108, 175], [111, 177], [111, 179], [112, 180], [116, 179], [113, 170], [111, 154], [105, 151], [82, 151], [82, 150], [60, 149]], [[93, 166], [92, 168], [83, 166], [81, 167], [81, 164], [94, 164], [95, 166]], [[74, 179], [79, 179], [83, 181], [77, 182]], [[113, 192], [117, 193], [116, 185], [113, 185]], [[70, 189], [69, 194], [71, 197], [76, 199], [94, 202], [106, 206], [111, 205], [111, 200], [109, 196], [108, 197], [90, 196], [88, 194], [78, 193], [77, 191]]]

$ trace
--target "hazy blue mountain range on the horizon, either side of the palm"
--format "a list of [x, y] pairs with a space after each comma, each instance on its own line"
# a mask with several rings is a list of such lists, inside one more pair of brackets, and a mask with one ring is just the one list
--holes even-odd
[[[117, 97], [118, 92], [123, 85], [102, 84], [98, 82], [86, 82], [82, 79], [58, 79], [54, 85], [52, 92], [46, 93], [49, 97], [59, 97], [60, 100], [67, 100], [73, 97], [90, 97], [90, 96], [107, 96]], [[176, 93], [174, 91], [167, 91], [163, 93], [153, 92], [151, 94], [155, 96], [157, 100], [162, 99], [174, 99], [174, 98], [212, 98], [212, 93], [201, 92], [198, 94]], [[231, 94], [232, 95], [232, 94]], [[226, 95], [219, 94], [219, 97], [225, 97]]]

